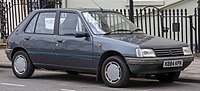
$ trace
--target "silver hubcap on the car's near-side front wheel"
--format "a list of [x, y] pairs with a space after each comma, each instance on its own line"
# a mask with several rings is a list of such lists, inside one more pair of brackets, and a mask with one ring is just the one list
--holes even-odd
[[105, 77], [110, 83], [117, 83], [121, 78], [121, 67], [118, 63], [112, 61], [106, 65]]

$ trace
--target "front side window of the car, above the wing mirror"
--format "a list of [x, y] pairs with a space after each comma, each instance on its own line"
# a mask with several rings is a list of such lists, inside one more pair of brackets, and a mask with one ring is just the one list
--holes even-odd
[[74, 35], [76, 32], [85, 32], [80, 17], [74, 13], [61, 13], [59, 35]]

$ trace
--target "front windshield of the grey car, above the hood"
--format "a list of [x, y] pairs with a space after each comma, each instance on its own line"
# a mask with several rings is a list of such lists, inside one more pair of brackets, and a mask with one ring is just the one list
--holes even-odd
[[117, 12], [92, 11], [83, 16], [95, 34], [133, 33], [138, 27]]

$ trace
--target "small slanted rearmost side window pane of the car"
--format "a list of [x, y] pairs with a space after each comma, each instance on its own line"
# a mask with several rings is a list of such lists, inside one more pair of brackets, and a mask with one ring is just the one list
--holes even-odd
[[34, 29], [35, 29], [35, 24], [36, 24], [36, 21], [37, 21], [37, 17], [38, 17], [38, 14], [36, 14], [32, 20], [29, 22], [28, 26], [26, 27], [26, 30], [25, 32], [26, 33], [34, 33]]

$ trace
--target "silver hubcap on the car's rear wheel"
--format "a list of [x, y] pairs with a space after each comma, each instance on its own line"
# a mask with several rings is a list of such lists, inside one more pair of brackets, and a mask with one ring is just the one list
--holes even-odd
[[14, 69], [18, 74], [24, 74], [27, 68], [27, 60], [23, 55], [18, 55], [14, 60]]

